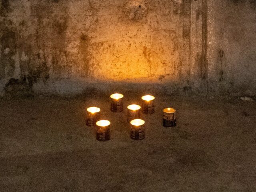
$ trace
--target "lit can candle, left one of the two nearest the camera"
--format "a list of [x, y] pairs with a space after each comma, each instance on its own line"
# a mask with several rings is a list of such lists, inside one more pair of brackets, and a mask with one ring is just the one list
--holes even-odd
[[96, 122], [96, 139], [99, 141], [110, 140], [110, 121], [100, 120]]

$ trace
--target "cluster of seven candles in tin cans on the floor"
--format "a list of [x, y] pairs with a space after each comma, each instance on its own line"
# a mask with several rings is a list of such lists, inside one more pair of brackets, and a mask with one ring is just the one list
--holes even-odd
[[[122, 112], [124, 110], [124, 96], [119, 93], [112, 94], [111, 98], [111, 111]], [[152, 114], [155, 111], [154, 96], [142, 96], [142, 107], [136, 104], [127, 106], [127, 122], [130, 123], [130, 137], [135, 140], [140, 140], [145, 137], [145, 121], [140, 119], [140, 112], [144, 114]], [[163, 110], [163, 126], [173, 127], [176, 126], [176, 110], [174, 108], [165, 108]], [[87, 108], [86, 125], [96, 126], [96, 139], [100, 141], [110, 140], [110, 121], [100, 120], [100, 108], [89, 107]]]

